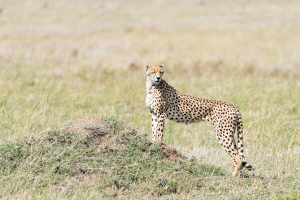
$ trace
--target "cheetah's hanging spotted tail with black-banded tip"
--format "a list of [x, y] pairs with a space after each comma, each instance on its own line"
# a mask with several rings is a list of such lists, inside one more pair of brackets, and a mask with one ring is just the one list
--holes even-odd
[[253, 168], [250, 164], [248, 164], [245, 161], [245, 156], [243, 154], [243, 145], [242, 145], [242, 119], [241, 119], [241, 114], [238, 111], [238, 109], [236, 109], [236, 129], [237, 129], [238, 152], [239, 152], [240, 156], [242, 157], [242, 166], [244, 168], [249, 169], [249, 170], [254, 170], [255, 168]]

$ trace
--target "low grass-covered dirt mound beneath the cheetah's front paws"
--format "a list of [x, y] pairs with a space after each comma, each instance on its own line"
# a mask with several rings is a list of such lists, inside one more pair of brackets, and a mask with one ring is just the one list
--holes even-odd
[[61, 198], [73, 197], [74, 188], [84, 192], [85, 187], [101, 191], [100, 198], [107, 192], [122, 198], [122, 192], [129, 196], [144, 190], [146, 195], [167, 197], [202, 187], [203, 177], [223, 176], [218, 168], [181, 157], [148, 137], [112, 117], [93, 117], [16, 139], [0, 146], [0, 170], [5, 174], [0, 188], [5, 191], [5, 183], [21, 182], [21, 189], [40, 185], [36, 192], [52, 185], [65, 196]]

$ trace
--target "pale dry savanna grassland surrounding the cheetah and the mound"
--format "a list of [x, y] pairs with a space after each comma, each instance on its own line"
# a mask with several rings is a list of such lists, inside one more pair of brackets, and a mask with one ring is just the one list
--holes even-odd
[[[1, 0], [0, 146], [93, 115], [150, 133], [142, 65], [164, 63], [163, 78], [179, 91], [239, 108], [245, 156], [256, 171], [230, 176], [231, 159], [209, 123], [167, 121], [164, 142], [207, 166], [201, 186], [155, 193], [114, 184], [105, 196], [298, 199], [299, 46], [297, 0]], [[51, 170], [43, 184], [25, 184], [28, 163], [21, 163], [18, 172], [0, 168], [1, 198], [103, 195], [99, 182], [74, 177], [46, 184]]]

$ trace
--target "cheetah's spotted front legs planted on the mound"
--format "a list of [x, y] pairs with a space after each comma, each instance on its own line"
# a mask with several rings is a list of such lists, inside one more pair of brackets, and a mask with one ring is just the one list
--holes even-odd
[[166, 114], [152, 114], [152, 142], [162, 141]]

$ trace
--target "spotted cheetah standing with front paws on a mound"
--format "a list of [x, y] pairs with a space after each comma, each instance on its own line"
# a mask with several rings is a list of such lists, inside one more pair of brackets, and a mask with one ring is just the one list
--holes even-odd
[[[242, 167], [254, 168], [245, 161], [242, 145], [242, 119], [232, 104], [183, 94], [161, 78], [163, 64], [144, 65], [146, 79], [146, 106], [152, 115], [152, 142], [162, 142], [165, 119], [180, 123], [206, 120], [213, 125], [216, 139], [233, 159], [232, 176]], [[237, 128], [237, 144], [234, 132]]]

